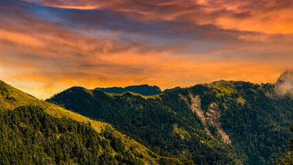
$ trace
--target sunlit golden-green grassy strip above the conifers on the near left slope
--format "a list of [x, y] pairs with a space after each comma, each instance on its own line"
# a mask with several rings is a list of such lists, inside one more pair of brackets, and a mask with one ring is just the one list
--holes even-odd
[[[86, 118], [83, 115], [79, 115], [78, 113], [74, 113], [72, 111], [69, 111], [67, 109], [63, 109], [62, 107], [59, 107], [56, 104], [52, 104], [50, 102], [45, 102], [43, 100], [39, 100], [35, 98], [34, 96], [31, 96], [29, 94], [25, 94], [23, 91], [20, 91], [19, 89], [15, 89], [14, 87], [4, 83], [0, 80], [0, 111], [8, 110], [8, 109], [14, 109], [19, 106], [24, 105], [39, 105], [43, 107], [44, 111], [50, 115], [53, 115], [57, 118], [72, 118], [74, 120], [77, 120], [79, 122], [91, 122], [91, 126], [100, 133], [101, 129], [105, 129], [106, 127], [113, 130], [114, 135], [117, 137], [122, 138], [122, 142], [124, 142], [124, 146], [126, 149], [135, 148], [133, 150], [133, 153], [142, 154], [144, 155], [144, 158], [142, 161], [145, 164], [157, 164], [156, 161], [158, 158], [160, 158], [155, 153], [149, 151], [148, 148], [143, 146], [142, 144], [136, 142], [135, 140], [129, 138], [127, 135], [124, 135], [120, 133], [119, 131], [116, 131], [116, 129], [113, 128], [110, 124], [99, 122], [95, 120], [91, 120], [89, 118]], [[155, 155], [158, 158], [153, 158], [150, 154]], [[168, 157], [165, 157], [166, 159], [169, 159]], [[172, 158], [171, 158], [172, 159]], [[177, 159], [173, 159], [173, 161], [178, 162]]]

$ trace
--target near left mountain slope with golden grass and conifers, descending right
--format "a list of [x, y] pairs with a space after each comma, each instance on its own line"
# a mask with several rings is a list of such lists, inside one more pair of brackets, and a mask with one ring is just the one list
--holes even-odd
[[0, 164], [182, 164], [0, 81]]

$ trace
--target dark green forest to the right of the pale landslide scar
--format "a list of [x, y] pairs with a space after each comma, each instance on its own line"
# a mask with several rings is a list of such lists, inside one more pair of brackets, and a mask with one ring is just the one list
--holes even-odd
[[[217, 103], [223, 109], [223, 128], [249, 157], [249, 164], [273, 164], [285, 152], [293, 118], [292, 98], [266, 96], [273, 86], [235, 83], [237, 94], [223, 94]], [[237, 102], [241, 96], [246, 100]]]

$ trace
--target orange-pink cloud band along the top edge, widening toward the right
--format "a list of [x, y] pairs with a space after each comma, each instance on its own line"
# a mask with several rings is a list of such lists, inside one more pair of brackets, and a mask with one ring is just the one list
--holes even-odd
[[129, 13], [138, 20], [183, 21], [220, 28], [292, 34], [293, 3], [285, 1], [43, 1], [55, 8], [102, 8]]

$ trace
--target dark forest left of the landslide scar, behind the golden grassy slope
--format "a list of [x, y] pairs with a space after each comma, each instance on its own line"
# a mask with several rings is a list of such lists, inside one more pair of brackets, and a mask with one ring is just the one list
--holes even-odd
[[190, 112], [177, 94], [144, 99], [125, 93], [111, 98], [99, 90], [89, 94], [81, 87], [73, 87], [51, 101], [82, 115], [105, 120], [144, 140], [162, 155], [178, 155], [188, 149], [197, 164], [236, 163], [232, 148], [206, 135], [196, 114]]

